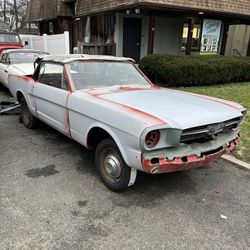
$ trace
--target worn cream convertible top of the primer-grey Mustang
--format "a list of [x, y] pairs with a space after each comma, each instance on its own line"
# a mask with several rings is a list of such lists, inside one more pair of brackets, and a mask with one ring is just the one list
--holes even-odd
[[71, 54], [71, 55], [48, 55], [45, 56], [43, 62], [57, 62], [57, 63], [70, 63], [80, 60], [99, 60], [99, 61], [117, 61], [117, 62], [135, 62], [131, 58], [103, 56], [103, 55], [87, 55], [87, 54]]

